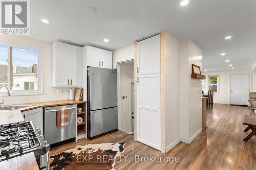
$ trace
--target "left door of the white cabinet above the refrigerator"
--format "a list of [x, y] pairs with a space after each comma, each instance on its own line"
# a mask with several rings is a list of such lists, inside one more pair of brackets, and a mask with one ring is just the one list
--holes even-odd
[[100, 67], [100, 49], [87, 46], [87, 65], [93, 67]]

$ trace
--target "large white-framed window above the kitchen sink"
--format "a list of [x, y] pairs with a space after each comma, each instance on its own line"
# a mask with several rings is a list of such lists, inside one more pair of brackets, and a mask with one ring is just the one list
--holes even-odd
[[8, 86], [11, 95], [42, 94], [41, 54], [40, 47], [0, 42], [0, 85]]

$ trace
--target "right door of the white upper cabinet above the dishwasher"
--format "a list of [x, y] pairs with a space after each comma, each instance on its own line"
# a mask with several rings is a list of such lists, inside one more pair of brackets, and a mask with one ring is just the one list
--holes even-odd
[[70, 45], [70, 85], [82, 86], [82, 47]]

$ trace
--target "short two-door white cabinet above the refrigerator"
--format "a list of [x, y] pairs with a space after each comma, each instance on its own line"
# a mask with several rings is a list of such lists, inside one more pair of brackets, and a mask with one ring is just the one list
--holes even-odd
[[87, 66], [112, 69], [112, 52], [93, 46], [84, 46], [83, 58]]

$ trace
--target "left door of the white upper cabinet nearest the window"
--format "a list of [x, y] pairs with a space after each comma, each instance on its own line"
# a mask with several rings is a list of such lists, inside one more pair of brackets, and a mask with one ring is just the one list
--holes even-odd
[[55, 86], [67, 87], [70, 85], [70, 45], [61, 42], [53, 44], [55, 54], [52, 56], [55, 60], [53, 69], [55, 69]]

